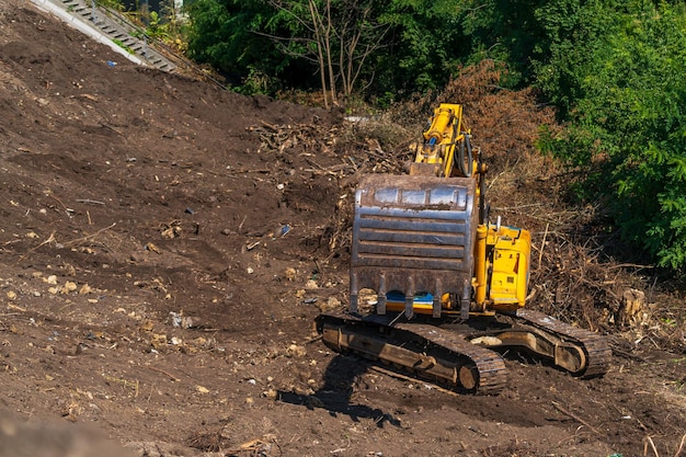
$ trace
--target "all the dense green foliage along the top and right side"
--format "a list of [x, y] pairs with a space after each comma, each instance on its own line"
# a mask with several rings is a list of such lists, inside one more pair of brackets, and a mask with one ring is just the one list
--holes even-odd
[[195, 0], [190, 53], [249, 91], [319, 88], [377, 105], [504, 62], [567, 128], [541, 149], [575, 195], [662, 266], [686, 266], [685, 2], [648, 0]]

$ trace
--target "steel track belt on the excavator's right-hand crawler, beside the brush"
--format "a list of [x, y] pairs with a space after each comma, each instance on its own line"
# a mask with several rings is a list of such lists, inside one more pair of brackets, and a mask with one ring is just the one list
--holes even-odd
[[519, 309], [516, 319], [581, 346], [586, 354], [587, 361], [587, 365], [581, 375], [582, 378], [593, 378], [607, 373], [613, 351], [606, 338], [585, 329], [572, 327], [544, 312], [530, 309]]

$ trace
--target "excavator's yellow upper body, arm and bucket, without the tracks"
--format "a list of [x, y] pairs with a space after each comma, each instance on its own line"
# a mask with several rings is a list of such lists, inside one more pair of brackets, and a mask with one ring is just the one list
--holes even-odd
[[485, 220], [480, 150], [462, 106], [441, 104], [423, 133], [410, 175], [367, 175], [353, 221], [351, 308], [362, 288], [377, 312], [514, 312], [525, 306], [531, 240], [527, 230]]

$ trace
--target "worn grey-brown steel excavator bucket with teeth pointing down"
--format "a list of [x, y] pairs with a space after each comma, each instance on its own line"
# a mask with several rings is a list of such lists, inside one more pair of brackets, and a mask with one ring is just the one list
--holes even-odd
[[[471, 295], [478, 219], [473, 179], [369, 174], [355, 195], [351, 266], [351, 311], [359, 290], [376, 290], [377, 313], [387, 297], [404, 297], [404, 313], [415, 312], [415, 297], [430, 296], [439, 317], [442, 297], [450, 294], [467, 319]], [[392, 293], [392, 294], [391, 294]]]

